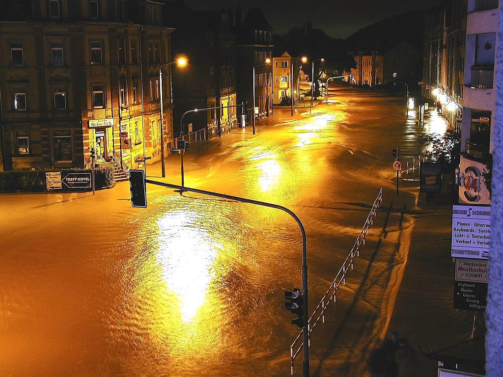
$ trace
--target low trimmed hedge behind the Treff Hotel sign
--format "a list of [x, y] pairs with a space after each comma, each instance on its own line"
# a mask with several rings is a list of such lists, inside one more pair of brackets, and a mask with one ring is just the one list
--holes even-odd
[[[0, 171], [0, 192], [21, 191], [27, 193], [37, 192], [76, 192], [90, 191], [91, 189], [69, 189], [62, 184], [61, 189], [47, 190], [45, 173], [60, 171], [61, 179], [68, 173], [92, 173], [92, 169], [64, 168], [64, 169], [36, 169], [36, 170], [8, 170]], [[102, 164], [95, 168], [95, 189], [109, 189], [115, 186], [114, 168], [111, 164]]]

